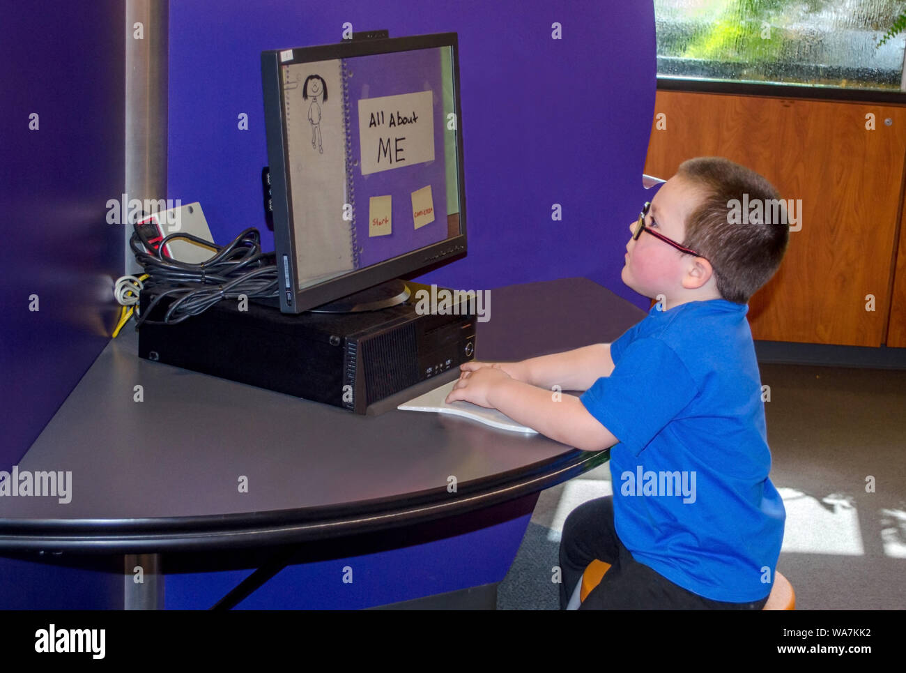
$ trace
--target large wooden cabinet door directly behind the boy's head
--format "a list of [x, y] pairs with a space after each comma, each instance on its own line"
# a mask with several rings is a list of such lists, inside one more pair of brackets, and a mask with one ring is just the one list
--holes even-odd
[[[686, 159], [724, 156], [764, 175], [781, 198], [801, 201], [802, 229], [790, 233], [780, 269], [749, 302], [752, 335], [881, 346], [906, 108], [660, 91], [654, 112], [646, 173], [669, 177]], [[666, 117], [659, 123], [660, 112]]]

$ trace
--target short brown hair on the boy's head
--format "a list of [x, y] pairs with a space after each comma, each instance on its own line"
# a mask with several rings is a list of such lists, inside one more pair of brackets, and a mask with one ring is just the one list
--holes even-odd
[[[702, 194], [686, 221], [683, 245], [711, 262], [721, 297], [746, 304], [774, 275], [786, 252], [789, 223], [786, 206], [777, 206], [779, 192], [757, 172], [723, 157], [683, 161], [677, 175]], [[735, 217], [745, 202], [758, 200], [766, 216], [745, 213], [742, 221]], [[771, 210], [781, 217], [770, 217]]]

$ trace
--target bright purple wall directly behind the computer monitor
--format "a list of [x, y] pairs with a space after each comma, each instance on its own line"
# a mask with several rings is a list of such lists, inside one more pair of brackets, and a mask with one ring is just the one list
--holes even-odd
[[169, 18], [169, 198], [199, 200], [218, 243], [255, 226], [274, 247], [261, 210], [261, 51], [339, 42], [346, 22], [393, 37], [457, 32], [469, 252], [416, 280], [483, 289], [583, 276], [647, 309], [620, 271], [647, 194], [651, 2], [181, 0]]

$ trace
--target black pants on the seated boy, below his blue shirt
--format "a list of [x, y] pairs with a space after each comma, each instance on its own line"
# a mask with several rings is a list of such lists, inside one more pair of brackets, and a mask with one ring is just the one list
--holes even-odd
[[708, 600], [633, 559], [613, 526], [612, 495], [584, 502], [566, 517], [560, 541], [561, 610], [595, 559], [611, 569], [580, 610], [761, 610], [767, 602], [767, 596], [751, 603]]

